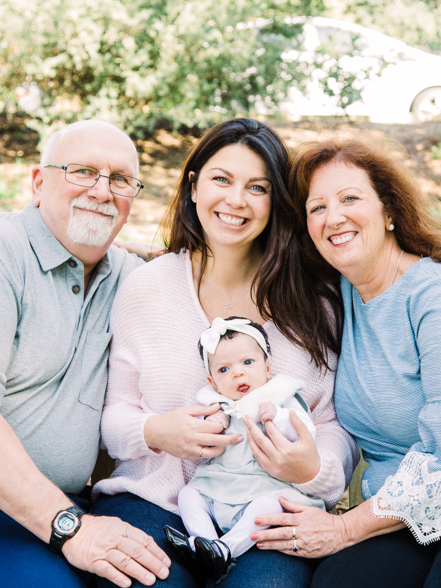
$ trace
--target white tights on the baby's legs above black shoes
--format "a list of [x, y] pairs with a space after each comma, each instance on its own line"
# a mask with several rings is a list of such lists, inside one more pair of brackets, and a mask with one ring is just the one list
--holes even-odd
[[[201, 496], [199, 490], [191, 486], [184, 486], [179, 492], [178, 506], [183, 524], [190, 535], [192, 546], [194, 537], [219, 539], [213, 524], [215, 520], [213, 506]], [[235, 526], [220, 539], [228, 545], [231, 556], [238, 557], [255, 544], [251, 539], [253, 531], [268, 529], [269, 527], [269, 525], [262, 527], [255, 524], [254, 519], [261, 515], [282, 512], [282, 506], [280, 506], [276, 498], [273, 496], [259, 496], [259, 498], [249, 503]]]

